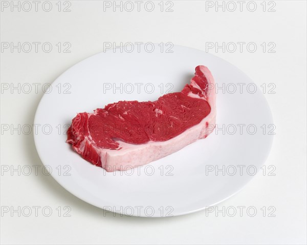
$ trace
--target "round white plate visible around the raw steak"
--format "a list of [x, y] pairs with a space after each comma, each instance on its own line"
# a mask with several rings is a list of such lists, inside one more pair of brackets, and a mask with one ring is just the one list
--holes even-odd
[[[117, 49], [82, 60], [54, 81], [37, 108], [34, 124], [40, 127], [34, 138], [43, 164], [61, 186], [104, 212], [161, 217], [205, 209], [242, 189], [269, 154], [272, 115], [260, 89], [252, 93], [253, 81], [214, 55], [182, 46], [166, 53], [165, 48], [161, 52], [156, 45], [151, 53], [137, 47], [131, 53]], [[218, 128], [225, 125], [224, 132], [216, 130], [148, 166], [113, 173], [91, 165], [65, 143], [64, 131], [76, 113], [119, 100], [156, 100], [171, 87], [171, 92], [181, 91], [198, 65], [211, 70], [219, 87], [225, 84], [225, 91], [217, 91], [216, 105], [216, 123]], [[107, 90], [120, 84], [122, 91]], [[242, 133], [238, 124], [246, 125]], [[249, 125], [255, 125], [255, 134]]]

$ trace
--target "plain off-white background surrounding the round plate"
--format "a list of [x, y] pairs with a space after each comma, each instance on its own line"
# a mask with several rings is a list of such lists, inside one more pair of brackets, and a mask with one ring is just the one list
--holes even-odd
[[[3, 2], [6, 1], [2, 1]], [[104, 42], [172, 42], [206, 51], [206, 42], [254, 42], [257, 50], [246, 48], [231, 53], [208, 50], [242, 69], [257, 85], [276, 84], [275, 94], [266, 93], [276, 125], [276, 135], [266, 166], [276, 166], [275, 176], [257, 174], [238, 194], [220, 203], [225, 206], [253, 206], [259, 212], [240, 217], [201, 211], [171, 218], [121, 217], [105, 213], [64, 190], [51, 176], [1, 174], [1, 206], [50, 206], [54, 212], [71, 207], [71, 217], [1, 217], [3, 244], [305, 244], [306, 243], [306, 2], [256, 1], [257, 9], [239, 10], [228, 5], [207, 9], [206, 1], [172, 1], [172, 12], [103, 11], [103, 1], [71, 1], [70, 12], [53, 9], [18, 12], [1, 10], [1, 42], [50, 42], [50, 53], [17, 49], [1, 51], [1, 83], [52, 83], [63, 71], [95, 53]], [[207, 1], [208, 2], [208, 1]], [[10, 1], [8, 2], [10, 4]], [[14, 2], [15, 4], [18, 1]], [[215, 1], [212, 2], [215, 4]], [[166, 3], [164, 3], [165, 5]], [[207, 3], [208, 4], [208, 3]], [[223, 4], [223, 2], [219, 2]], [[226, 2], [227, 4], [227, 2]], [[61, 6], [64, 7], [63, 3]], [[68, 6], [68, 5], [65, 5]], [[48, 7], [47, 5], [45, 6]], [[226, 5], [227, 7], [227, 5]], [[250, 8], [253, 6], [250, 5]], [[27, 9], [28, 6], [24, 5]], [[63, 10], [63, 9], [61, 9]], [[57, 43], [71, 43], [70, 53], [58, 53]], [[275, 53], [263, 52], [262, 43], [275, 43]], [[119, 68], [120, 69], [120, 68]], [[153, 71], [154, 72], [154, 71]], [[1, 94], [1, 124], [33, 124], [43, 93], [17, 91]], [[33, 135], [1, 134], [1, 165], [42, 165]], [[275, 207], [275, 217], [265, 217], [263, 206]], [[115, 215], [115, 217], [114, 217]]]

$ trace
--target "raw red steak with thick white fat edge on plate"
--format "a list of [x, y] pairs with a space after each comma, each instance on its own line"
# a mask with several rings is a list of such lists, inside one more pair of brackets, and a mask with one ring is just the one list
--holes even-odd
[[213, 131], [214, 88], [209, 69], [198, 66], [181, 92], [156, 101], [119, 101], [94, 113], [78, 113], [67, 131], [67, 142], [107, 172], [148, 164]]

